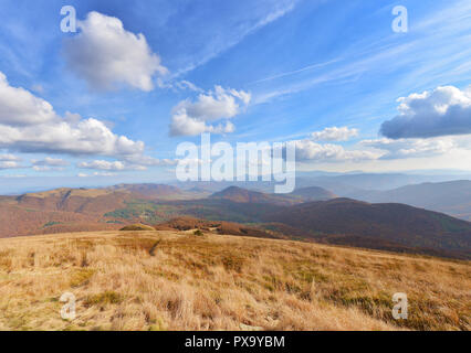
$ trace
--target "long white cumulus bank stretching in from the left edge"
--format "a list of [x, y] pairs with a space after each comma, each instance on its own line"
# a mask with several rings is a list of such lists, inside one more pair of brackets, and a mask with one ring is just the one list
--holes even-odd
[[[11, 87], [0, 73], [0, 148], [27, 153], [142, 154], [144, 143], [115, 135], [103, 121], [57, 116], [31, 93]], [[6, 94], [3, 96], [2, 94]], [[14, 106], [12, 105], [14, 103]]]

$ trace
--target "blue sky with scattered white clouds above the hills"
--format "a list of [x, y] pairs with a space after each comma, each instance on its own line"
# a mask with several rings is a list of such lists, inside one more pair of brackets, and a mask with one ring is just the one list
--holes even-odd
[[471, 2], [0, 0], [1, 192], [172, 180], [202, 132], [471, 171]]

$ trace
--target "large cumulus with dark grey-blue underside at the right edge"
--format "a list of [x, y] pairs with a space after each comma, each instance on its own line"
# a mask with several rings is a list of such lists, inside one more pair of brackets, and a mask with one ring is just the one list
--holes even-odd
[[399, 115], [381, 125], [390, 139], [471, 133], [471, 87], [437, 87], [398, 99]]

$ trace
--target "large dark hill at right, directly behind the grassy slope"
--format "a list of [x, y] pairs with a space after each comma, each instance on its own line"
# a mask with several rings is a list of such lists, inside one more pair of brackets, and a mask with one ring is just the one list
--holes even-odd
[[404, 204], [335, 199], [285, 207], [265, 220], [327, 243], [471, 258], [471, 223]]

